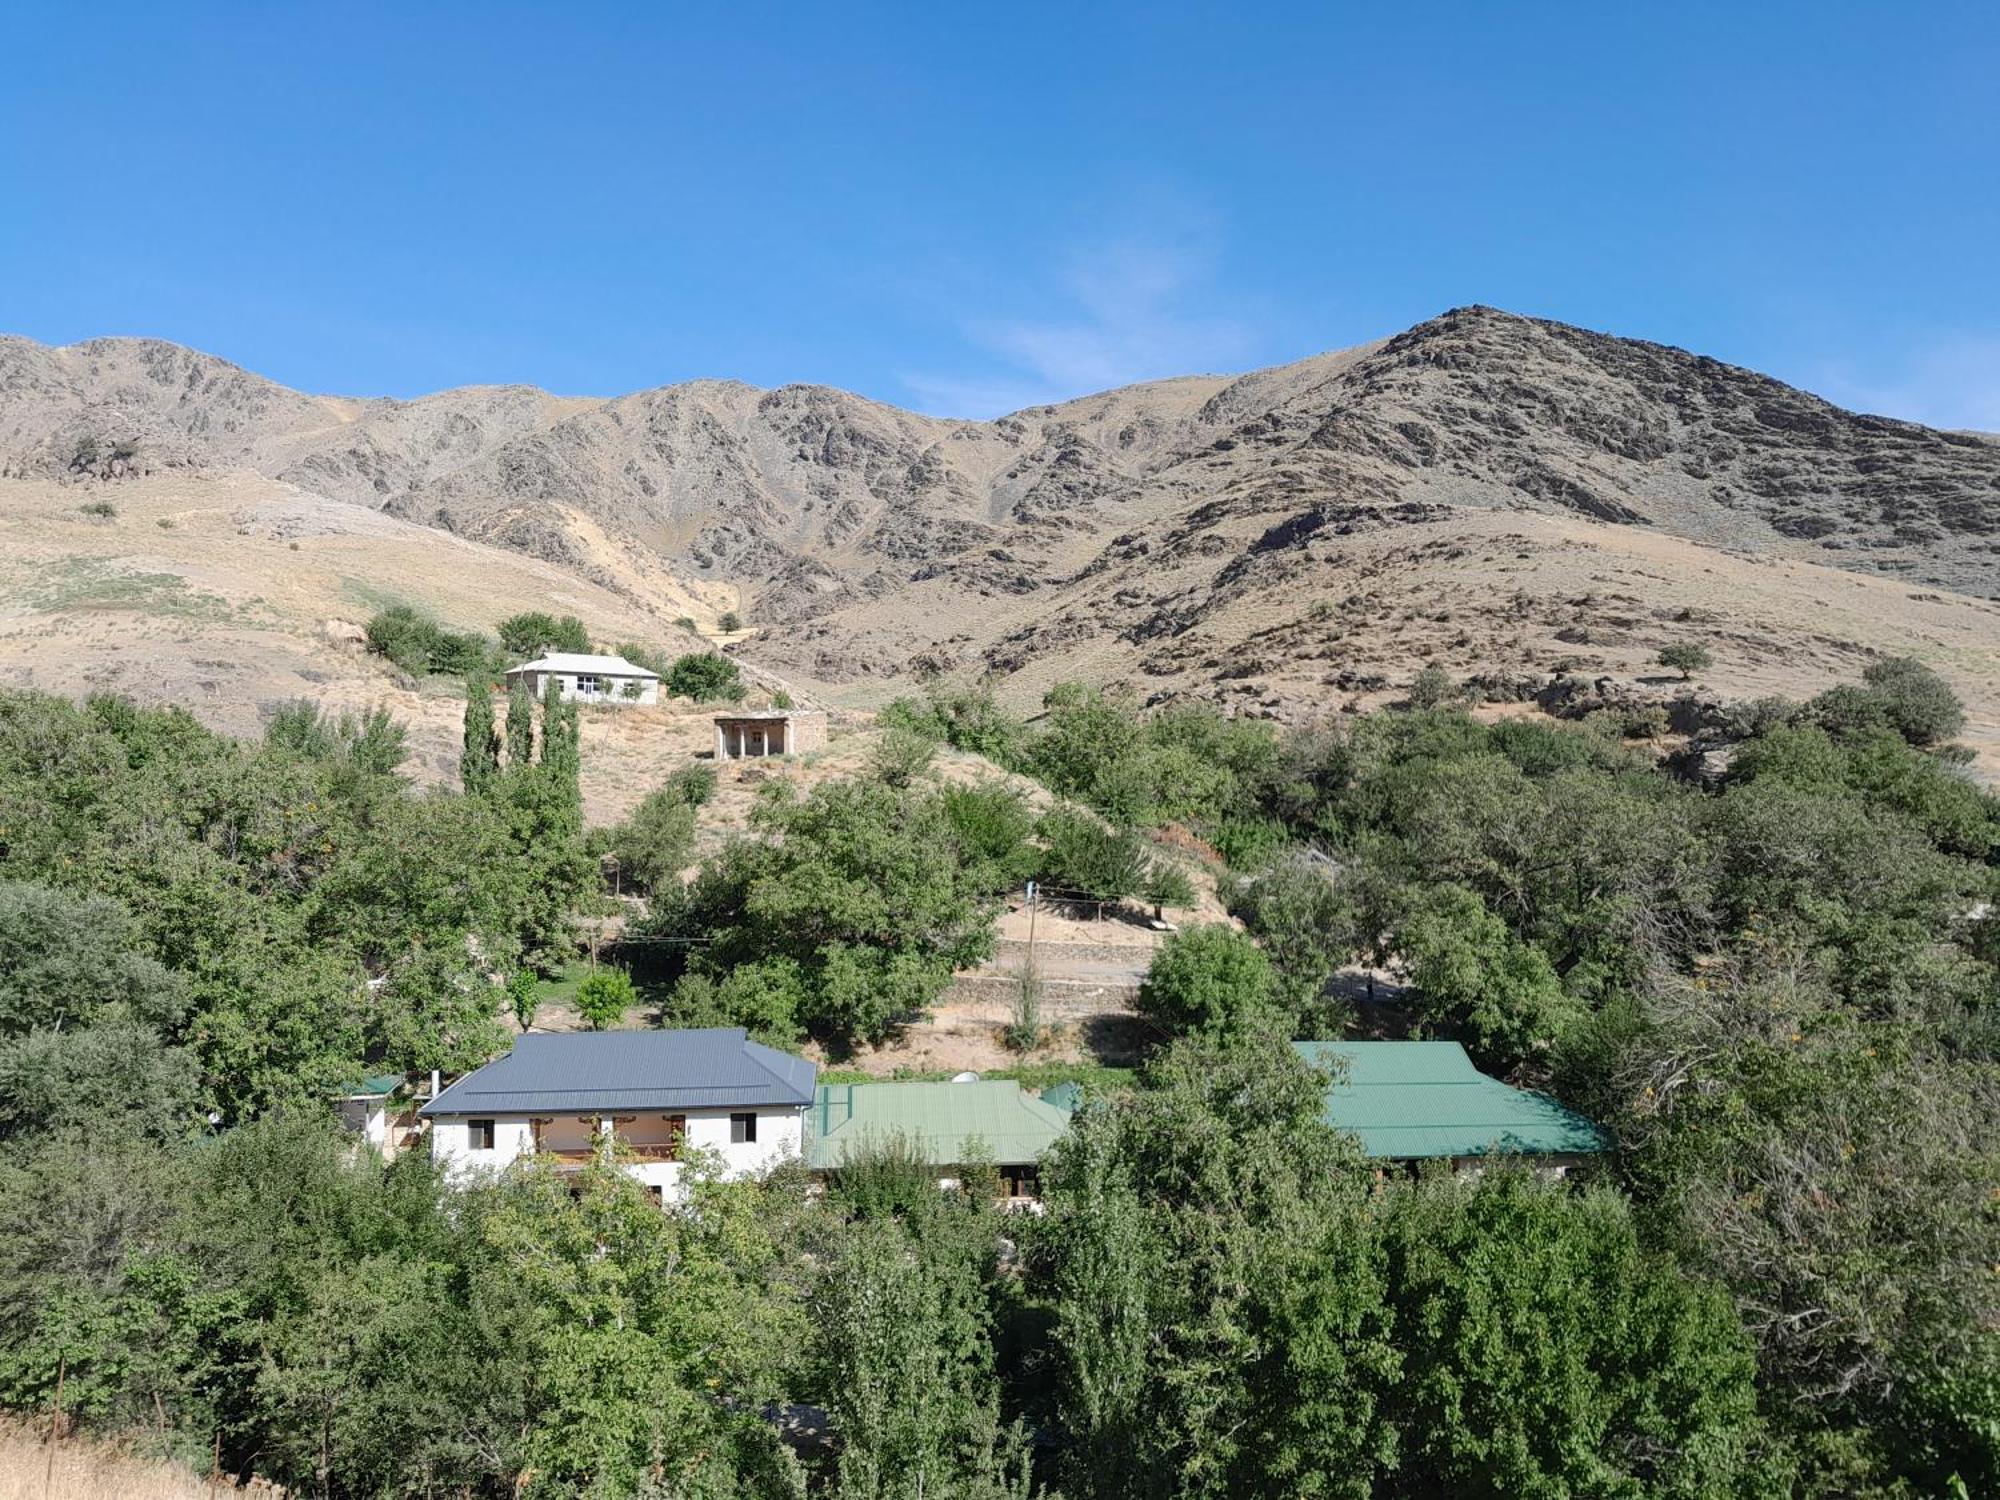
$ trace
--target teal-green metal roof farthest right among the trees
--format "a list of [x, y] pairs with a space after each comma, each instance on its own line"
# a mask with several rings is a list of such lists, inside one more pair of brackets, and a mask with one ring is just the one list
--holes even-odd
[[1472, 1066], [1458, 1042], [1292, 1042], [1306, 1062], [1346, 1062], [1326, 1090], [1326, 1122], [1362, 1152], [1394, 1160], [1518, 1152], [1600, 1152], [1604, 1132], [1546, 1094]]

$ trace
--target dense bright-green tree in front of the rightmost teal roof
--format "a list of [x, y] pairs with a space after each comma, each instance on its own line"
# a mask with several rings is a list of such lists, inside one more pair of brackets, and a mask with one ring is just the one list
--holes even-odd
[[1780, 1488], [1728, 1298], [1646, 1254], [1618, 1194], [1432, 1176], [1392, 1188], [1382, 1220], [1400, 1490]]

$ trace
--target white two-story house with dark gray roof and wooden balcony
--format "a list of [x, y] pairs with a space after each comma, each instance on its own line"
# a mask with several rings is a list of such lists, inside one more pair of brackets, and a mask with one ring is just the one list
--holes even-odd
[[[548, 1152], [616, 1152], [662, 1202], [682, 1196], [690, 1150], [724, 1176], [804, 1156], [816, 1068], [740, 1026], [522, 1036], [422, 1108], [430, 1152], [454, 1178]], [[628, 1150], [626, 1150], [628, 1148]]]

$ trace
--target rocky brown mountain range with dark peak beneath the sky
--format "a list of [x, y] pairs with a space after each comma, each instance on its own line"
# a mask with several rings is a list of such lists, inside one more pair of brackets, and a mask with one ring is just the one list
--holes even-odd
[[1634, 672], [1680, 636], [1746, 690], [1918, 650], [1978, 698], [2000, 636], [2000, 440], [1492, 308], [994, 422], [708, 380], [330, 398], [172, 344], [0, 340], [0, 474], [216, 472], [640, 604], [740, 600], [746, 654], [854, 700], [1082, 674], [1296, 716], [1430, 660]]

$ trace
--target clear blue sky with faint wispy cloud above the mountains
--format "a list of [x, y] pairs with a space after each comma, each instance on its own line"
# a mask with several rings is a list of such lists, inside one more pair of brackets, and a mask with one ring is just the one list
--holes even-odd
[[2000, 428], [2000, 4], [0, 0], [0, 330], [990, 416], [1490, 302]]

